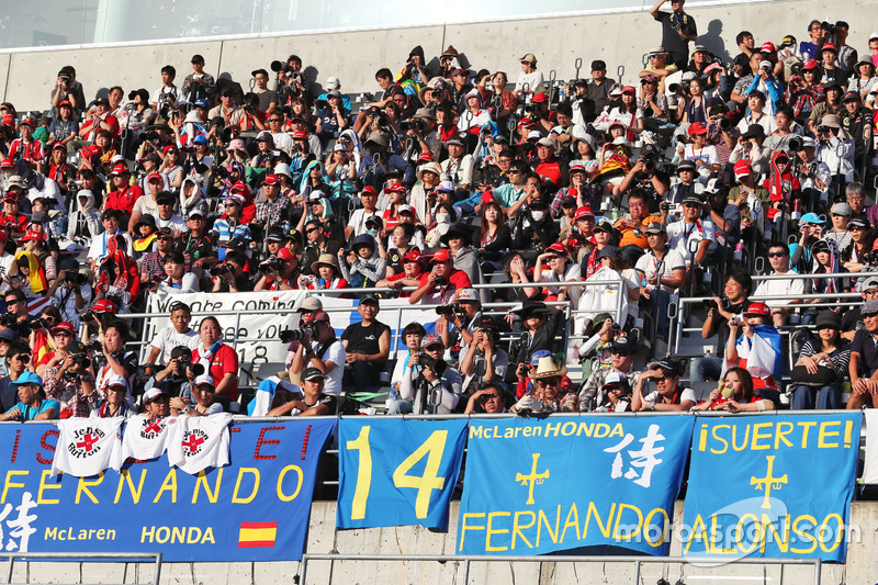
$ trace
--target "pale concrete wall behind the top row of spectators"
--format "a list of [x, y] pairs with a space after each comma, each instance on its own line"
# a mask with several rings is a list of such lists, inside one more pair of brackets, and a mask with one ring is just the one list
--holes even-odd
[[[851, 41], [860, 54], [867, 52], [866, 40], [875, 27], [867, 14], [869, 2], [793, 0], [727, 5], [689, 5], [698, 23], [703, 43], [720, 55], [734, 56], [735, 34], [747, 29], [762, 43], [778, 43], [786, 34], [807, 37], [812, 18], [846, 20]], [[245, 87], [250, 71], [271, 60], [284, 59], [291, 53], [302, 57], [306, 72], [319, 83], [330, 75], [338, 76], [347, 92], [375, 91], [374, 71], [380, 67], [398, 70], [415, 45], [421, 45], [428, 58], [439, 55], [449, 44], [460, 50], [474, 68], [506, 70], [515, 80], [518, 58], [525, 53], [537, 55], [540, 69], [555, 69], [560, 79], [574, 77], [574, 61], [583, 58], [588, 75], [592, 59], [607, 61], [615, 77], [618, 65], [624, 66], [624, 79], [634, 81], [642, 55], [661, 41], [661, 29], [644, 11], [586, 16], [509, 20], [475, 24], [437, 24], [435, 26], [393, 30], [353, 31], [328, 34], [301, 34], [277, 37], [241, 38], [89, 49], [37, 50], [0, 54], [0, 85], [4, 101], [19, 111], [43, 110], [55, 76], [65, 64], [77, 68], [87, 97], [101, 88], [121, 85], [125, 91], [160, 85], [159, 69], [171, 64], [178, 75], [188, 75], [194, 53], [204, 55], [206, 70], [230, 75]], [[7, 59], [10, 59], [7, 67]], [[9, 80], [5, 71], [9, 70]]]

